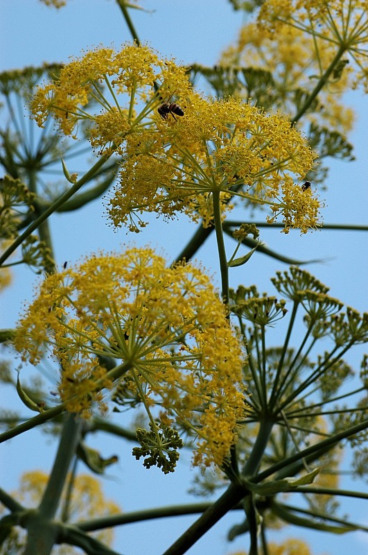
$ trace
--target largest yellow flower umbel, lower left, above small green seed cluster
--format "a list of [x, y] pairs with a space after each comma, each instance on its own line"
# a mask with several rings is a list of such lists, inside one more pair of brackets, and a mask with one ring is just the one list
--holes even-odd
[[[103, 388], [125, 384], [150, 418], [198, 437], [195, 463], [221, 464], [236, 441], [243, 355], [224, 305], [194, 266], [167, 268], [152, 250], [131, 248], [49, 275], [15, 347], [33, 364], [51, 350], [71, 411], [85, 413]], [[100, 356], [117, 366], [107, 372]]]

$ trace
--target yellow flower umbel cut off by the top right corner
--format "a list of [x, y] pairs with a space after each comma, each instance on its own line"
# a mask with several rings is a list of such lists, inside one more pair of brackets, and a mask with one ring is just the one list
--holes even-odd
[[367, 0], [265, 0], [259, 24], [263, 32], [272, 34], [282, 32], [284, 25], [308, 33], [320, 44], [318, 53], [322, 60], [324, 49], [330, 50], [330, 46], [335, 46], [335, 55], [341, 61], [349, 53], [356, 67], [353, 85], [363, 82], [367, 90]]

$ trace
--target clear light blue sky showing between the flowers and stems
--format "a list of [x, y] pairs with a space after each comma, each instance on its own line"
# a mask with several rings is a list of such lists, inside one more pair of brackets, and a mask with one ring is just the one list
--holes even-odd
[[[215, 64], [222, 49], [236, 38], [243, 22], [243, 15], [233, 12], [225, 0], [142, 0], [141, 3], [148, 10], [155, 11], [130, 11], [139, 37], [166, 56], [177, 58], [177, 62]], [[46, 8], [37, 0], [0, 0], [0, 10], [0, 31], [5, 46], [0, 52], [0, 71], [25, 65], [37, 66], [46, 61], [65, 62], [69, 56], [76, 56], [90, 46], [119, 46], [130, 40], [128, 28], [114, 0], [69, 0], [67, 7], [62, 10]], [[331, 164], [326, 182], [328, 190], [321, 193], [326, 199], [326, 223], [367, 223], [368, 101], [360, 91], [350, 93], [347, 101], [357, 114], [356, 127], [349, 136], [350, 142], [356, 147], [356, 162], [337, 161]], [[121, 244], [132, 240], [138, 245], [150, 244], [163, 250], [170, 260], [181, 250], [182, 237], [190, 237], [194, 229], [187, 221], [166, 223], [152, 219], [152, 223], [139, 237], [134, 235], [132, 238], [124, 231], [115, 233], [102, 216], [100, 200], [80, 211], [78, 225], [75, 214], [55, 215], [51, 219], [51, 232], [60, 265], [64, 260], [74, 261], [100, 248], [119, 249]], [[324, 264], [310, 264], [308, 270], [331, 287], [332, 296], [359, 310], [367, 309], [367, 247], [363, 233], [321, 231], [300, 237], [298, 232], [284, 235], [279, 231], [265, 230], [262, 238], [269, 246], [290, 257], [326, 259]], [[230, 246], [229, 242], [227, 245]], [[212, 238], [202, 247], [198, 259], [209, 268], [217, 282], [214, 248]], [[276, 270], [283, 269], [286, 269], [283, 264], [264, 255], [255, 255], [249, 264], [234, 269], [231, 283], [256, 282], [260, 291], [271, 290], [270, 277]], [[34, 282], [35, 275], [28, 270], [20, 270], [15, 274], [12, 287], [0, 299], [1, 327], [14, 325], [23, 301], [30, 298]], [[351, 364], [357, 366], [359, 361], [360, 356], [352, 356]], [[98, 437], [93, 438], [91, 443], [100, 447]], [[44, 445], [44, 436], [36, 431], [15, 438], [9, 445], [2, 445], [0, 465], [7, 471], [11, 488], [17, 487], [20, 472], [29, 468], [49, 469], [55, 443], [42, 447], [42, 452], [39, 445]], [[105, 456], [117, 452], [120, 458], [118, 466], [111, 470], [105, 482], [105, 491], [107, 495], [115, 497], [125, 511], [152, 506], [157, 499], [159, 505], [191, 499], [185, 493], [182, 495], [182, 492], [188, 488], [192, 470], [181, 466], [175, 475], [164, 477], [159, 470], [148, 472], [141, 467], [141, 463], [132, 459], [131, 445], [122, 446], [114, 438], [106, 437], [104, 445]], [[27, 456], [22, 456], [23, 453]], [[189, 455], [186, 455], [186, 460], [189, 461]], [[8, 461], [14, 461], [11, 472], [8, 470]], [[363, 511], [362, 508], [362, 515]], [[191, 517], [166, 520], [165, 527], [161, 521], [129, 525], [119, 532], [116, 549], [129, 555], [141, 555], [143, 552], [157, 555], [192, 520]], [[244, 548], [247, 544], [243, 543], [243, 539], [229, 546], [225, 543], [229, 522], [238, 520], [241, 520], [240, 515], [238, 518], [227, 516], [189, 554], [211, 552], [213, 555], [225, 555]], [[285, 535], [279, 532], [275, 537]], [[364, 551], [360, 534], [334, 538], [324, 536], [323, 533], [294, 529], [290, 530], [291, 535], [308, 538], [313, 555], [322, 552], [340, 555], [353, 552], [354, 549], [358, 555]]]

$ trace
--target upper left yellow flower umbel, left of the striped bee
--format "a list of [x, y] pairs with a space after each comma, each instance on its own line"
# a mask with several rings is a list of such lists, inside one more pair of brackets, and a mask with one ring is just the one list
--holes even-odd
[[52, 114], [64, 135], [87, 122], [92, 145], [111, 153], [119, 151], [121, 137], [147, 125], [161, 96], [189, 88], [185, 69], [148, 46], [125, 44], [118, 52], [101, 46], [71, 60], [53, 82], [39, 87], [31, 109], [39, 126]]

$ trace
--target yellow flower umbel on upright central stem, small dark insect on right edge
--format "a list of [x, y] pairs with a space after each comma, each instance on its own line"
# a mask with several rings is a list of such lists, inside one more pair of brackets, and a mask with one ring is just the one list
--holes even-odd
[[315, 158], [286, 117], [232, 98], [208, 101], [189, 93], [182, 108], [184, 116], [157, 115], [155, 128], [127, 137], [128, 159], [106, 203], [115, 227], [128, 222], [139, 231], [146, 225], [139, 214], [153, 211], [168, 217], [184, 212], [207, 226], [215, 195], [222, 217], [237, 198], [282, 212], [288, 227], [317, 225], [312, 213], [319, 202], [312, 195], [304, 195], [306, 217], [299, 211], [297, 221], [295, 202], [289, 207], [287, 198], [278, 200], [284, 184], [303, 179]]

